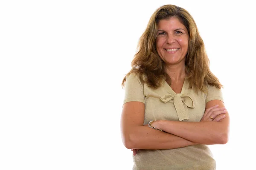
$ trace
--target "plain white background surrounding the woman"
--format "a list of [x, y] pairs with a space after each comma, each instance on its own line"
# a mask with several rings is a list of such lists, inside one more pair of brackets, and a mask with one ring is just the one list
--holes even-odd
[[149, 17], [174, 4], [197, 23], [224, 85], [230, 140], [218, 170], [255, 167], [255, 8], [243, 1], [0, 2], [0, 169], [131, 170], [124, 91]]

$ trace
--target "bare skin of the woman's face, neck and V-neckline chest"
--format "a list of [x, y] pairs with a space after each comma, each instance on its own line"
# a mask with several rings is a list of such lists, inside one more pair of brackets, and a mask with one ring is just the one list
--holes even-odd
[[166, 72], [172, 79], [171, 88], [176, 93], [180, 93], [186, 77], [185, 60], [189, 46], [188, 30], [177, 17], [160, 20], [157, 30], [157, 53], [166, 63]]

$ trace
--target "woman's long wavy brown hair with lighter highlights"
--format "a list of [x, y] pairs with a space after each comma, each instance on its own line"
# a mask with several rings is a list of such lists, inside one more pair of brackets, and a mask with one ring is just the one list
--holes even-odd
[[166, 73], [166, 64], [157, 54], [155, 41], [157, 37], [157, 24], [160, 20], [177, 17], [186, 26], [189, 33], [189, 46], [186, 54], [186, 76], [190, 88], [195, 91], [207, 92], [207, 85], [221, 88], [218, 78], [209, 69], [209, 59], [205, 51], [204, 42], [199, 35], [194, 19], [183, 8], [175, 5], [164, 5], [158, 8], [151, 16], [147, 28], [140, 37], [138, 52], [131, 62], [131, 70], [122, 80], [125, 86], [126, 76], [131, 73], [139, 75], [140, 80], [151, 88], [158, 88], [163, 79], [171, 84], [171, 79]]

